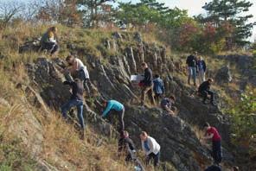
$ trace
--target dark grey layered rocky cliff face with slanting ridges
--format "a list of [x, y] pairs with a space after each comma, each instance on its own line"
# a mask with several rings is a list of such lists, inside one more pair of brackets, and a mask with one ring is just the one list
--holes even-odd
[[[128, 39], [133, 42], [132, 45], [125, 45]], [[87, 54], [75, 44], [67, 45], [67, 48], [80, 54], [81, 59], [87, 64], [98, 96], [117, 99], [125, 104], [125, 126], [131, 132], [131, 137], [138, 148], [140, 147], [138, 134], [141, 130], [146, 130], [160, 143], [162, 161], [170, 162], [180, 171], [202, 170], [210, 165], [212, 160], [209, 150], [199, 142], [193, 128], [195, 125], [200, 127], [202, 123], [208, 121], [221, 131], [224, 147], [227, 148], [224, 150], [224, 162], [228, 166], [234, 161], [233, 155], [228, 153], [229, 118], [217, 107], [204, 105], [199, 98], [191, 96], [195, 90], [184, 85], [178, 77], [172, 76], [185, 69], [179, 65], [179, 62], [170, 59], [164, 47], [147, 44], [142, 41], [138, 33], [135, 35], [115, 33], [103, 44], [106, 49], [118, 53], [99, 58]], [[131, 85], [130, 75], [143, 73], [140, 69], [140, 63], [143, 61], [149, 63], [153, 73], [162, 75], [167, 95], [176, 95], [176, 106], [179, 111], [176, 117], [171, 117], [157, 106], [151, 108], [138, 106], [139, 90]], [[48, 60], [42, 57], [35, 63], [27, 64], [29, 86], [35, 90], [30, 104], [46, 105], [46, 110], [49, 107], [59, 111], [61, 104], [69, 98], [67, 86], [62, 85], [63, 76], [58, 71], [58, 65], [62, 62], [61, 59]], [[29, 93], [27, 95], [29, 96]], [[99, 118], [97, 98], [87, 99], [86, 102], [88, 106], [85, 113], [88, 122], [97, 128], [99, 133], [115, 134], [112, 126]]]

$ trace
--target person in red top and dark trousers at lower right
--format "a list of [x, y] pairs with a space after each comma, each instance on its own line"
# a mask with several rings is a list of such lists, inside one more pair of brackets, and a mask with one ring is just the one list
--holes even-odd
[[212, 156], [214, 158], [214, 164], [219, 165], [222, 160], [222, 152], [221, 152], [221, 136], [218, 130], [209, 123], [204, 123], [203, 129], [205, 130], [205, 136], [202, 137], [203, 140], [212, 140]]

